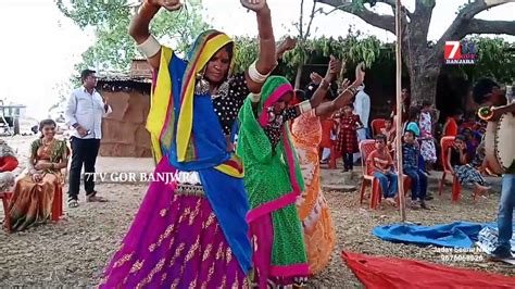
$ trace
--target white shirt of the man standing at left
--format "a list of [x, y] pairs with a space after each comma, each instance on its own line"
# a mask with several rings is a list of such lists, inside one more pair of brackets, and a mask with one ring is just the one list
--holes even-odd
[[73, 129], [72, 136], [83, 139], [102, 138], [102, 117], [108, 116], [113, 110], [108, 105], [105, 111], [102, 97], [93, 89], [90, 95], [84, 86], [72, 91], [66, 104], [65, 120], [66, 125], [79, 124], [90, 134], [80, 137], [76, 129]]

